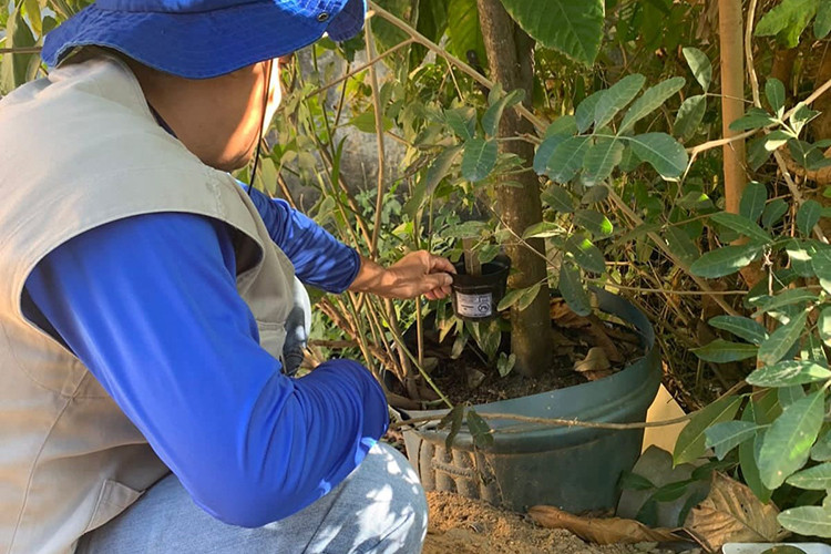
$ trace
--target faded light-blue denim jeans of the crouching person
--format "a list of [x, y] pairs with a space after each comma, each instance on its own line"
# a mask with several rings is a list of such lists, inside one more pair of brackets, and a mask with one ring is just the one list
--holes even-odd
[[175, 475], [91, 531], [78, 554], [419, 554], [427, 499], [409, 462], [379, 443], [329, 494], [263, 527], [227, 525], [197, 507]]

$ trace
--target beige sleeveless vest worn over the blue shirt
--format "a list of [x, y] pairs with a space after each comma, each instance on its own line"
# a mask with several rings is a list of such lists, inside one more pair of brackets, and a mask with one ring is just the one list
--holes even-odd
[[126, 65], [65, 65], [0, 102], [0, 553], [72, 552], [168, 471], [86, 368], [21, 312], [49, 252], [153, 212], [236, 229], [237, 290], [279, 357], [291, 263], [235, 181], [158, 127]]

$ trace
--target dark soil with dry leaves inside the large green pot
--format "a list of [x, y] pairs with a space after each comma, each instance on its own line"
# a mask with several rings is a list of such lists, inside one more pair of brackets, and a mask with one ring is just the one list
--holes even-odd
[[[431, 375], [433, 381], [451, 402], [479, 404], [608, 377], [644, 353], [637, 332], [624, 322], [603, 321], [596, 316], [577, 316], [557, 299], [552, 300], [551, 311], [554, 356], [552, 365], [538, 376], [529, 378], [517, 371], [500, 376], [495, 368], [485, 363], [484, 356], [470, 339], [458, 359], [451, 359], [447, 352], [445, 356], [437, 356], [438, 366]], [[510, 336], [503, 334], [503, 348], [510, 341]], [[592, 349], [601, 350], [602, 359], [582, 365]], [[437, 353], [437, 350], [432, 353]]]

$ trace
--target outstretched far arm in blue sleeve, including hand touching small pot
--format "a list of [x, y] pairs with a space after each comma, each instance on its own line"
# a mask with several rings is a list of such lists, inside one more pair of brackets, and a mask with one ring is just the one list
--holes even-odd
[[271, 199], [256, 188], [252, 201], [271, 240], [295, 265], [297, 277], [330, 293], [352, 290], [384, 298], [444, 298], [453, 283], [453, 265], [425, 250], [410, 253], [389, 268], [359, 256], [286, 201]]

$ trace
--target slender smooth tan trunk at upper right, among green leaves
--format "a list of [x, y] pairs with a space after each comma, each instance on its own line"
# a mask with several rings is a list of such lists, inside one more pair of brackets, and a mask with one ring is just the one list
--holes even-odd
[[[741, 0], [718, 0], [718, 27], [721, 52], [721, 133], [728, 138], [739, 134], [730, 130], [730, 123], [745, 115], [745, 27]], [[724, 157], [725, 208], [738, 214], [741, 193], [747, 184], [745, 141], [726, 144]]]

